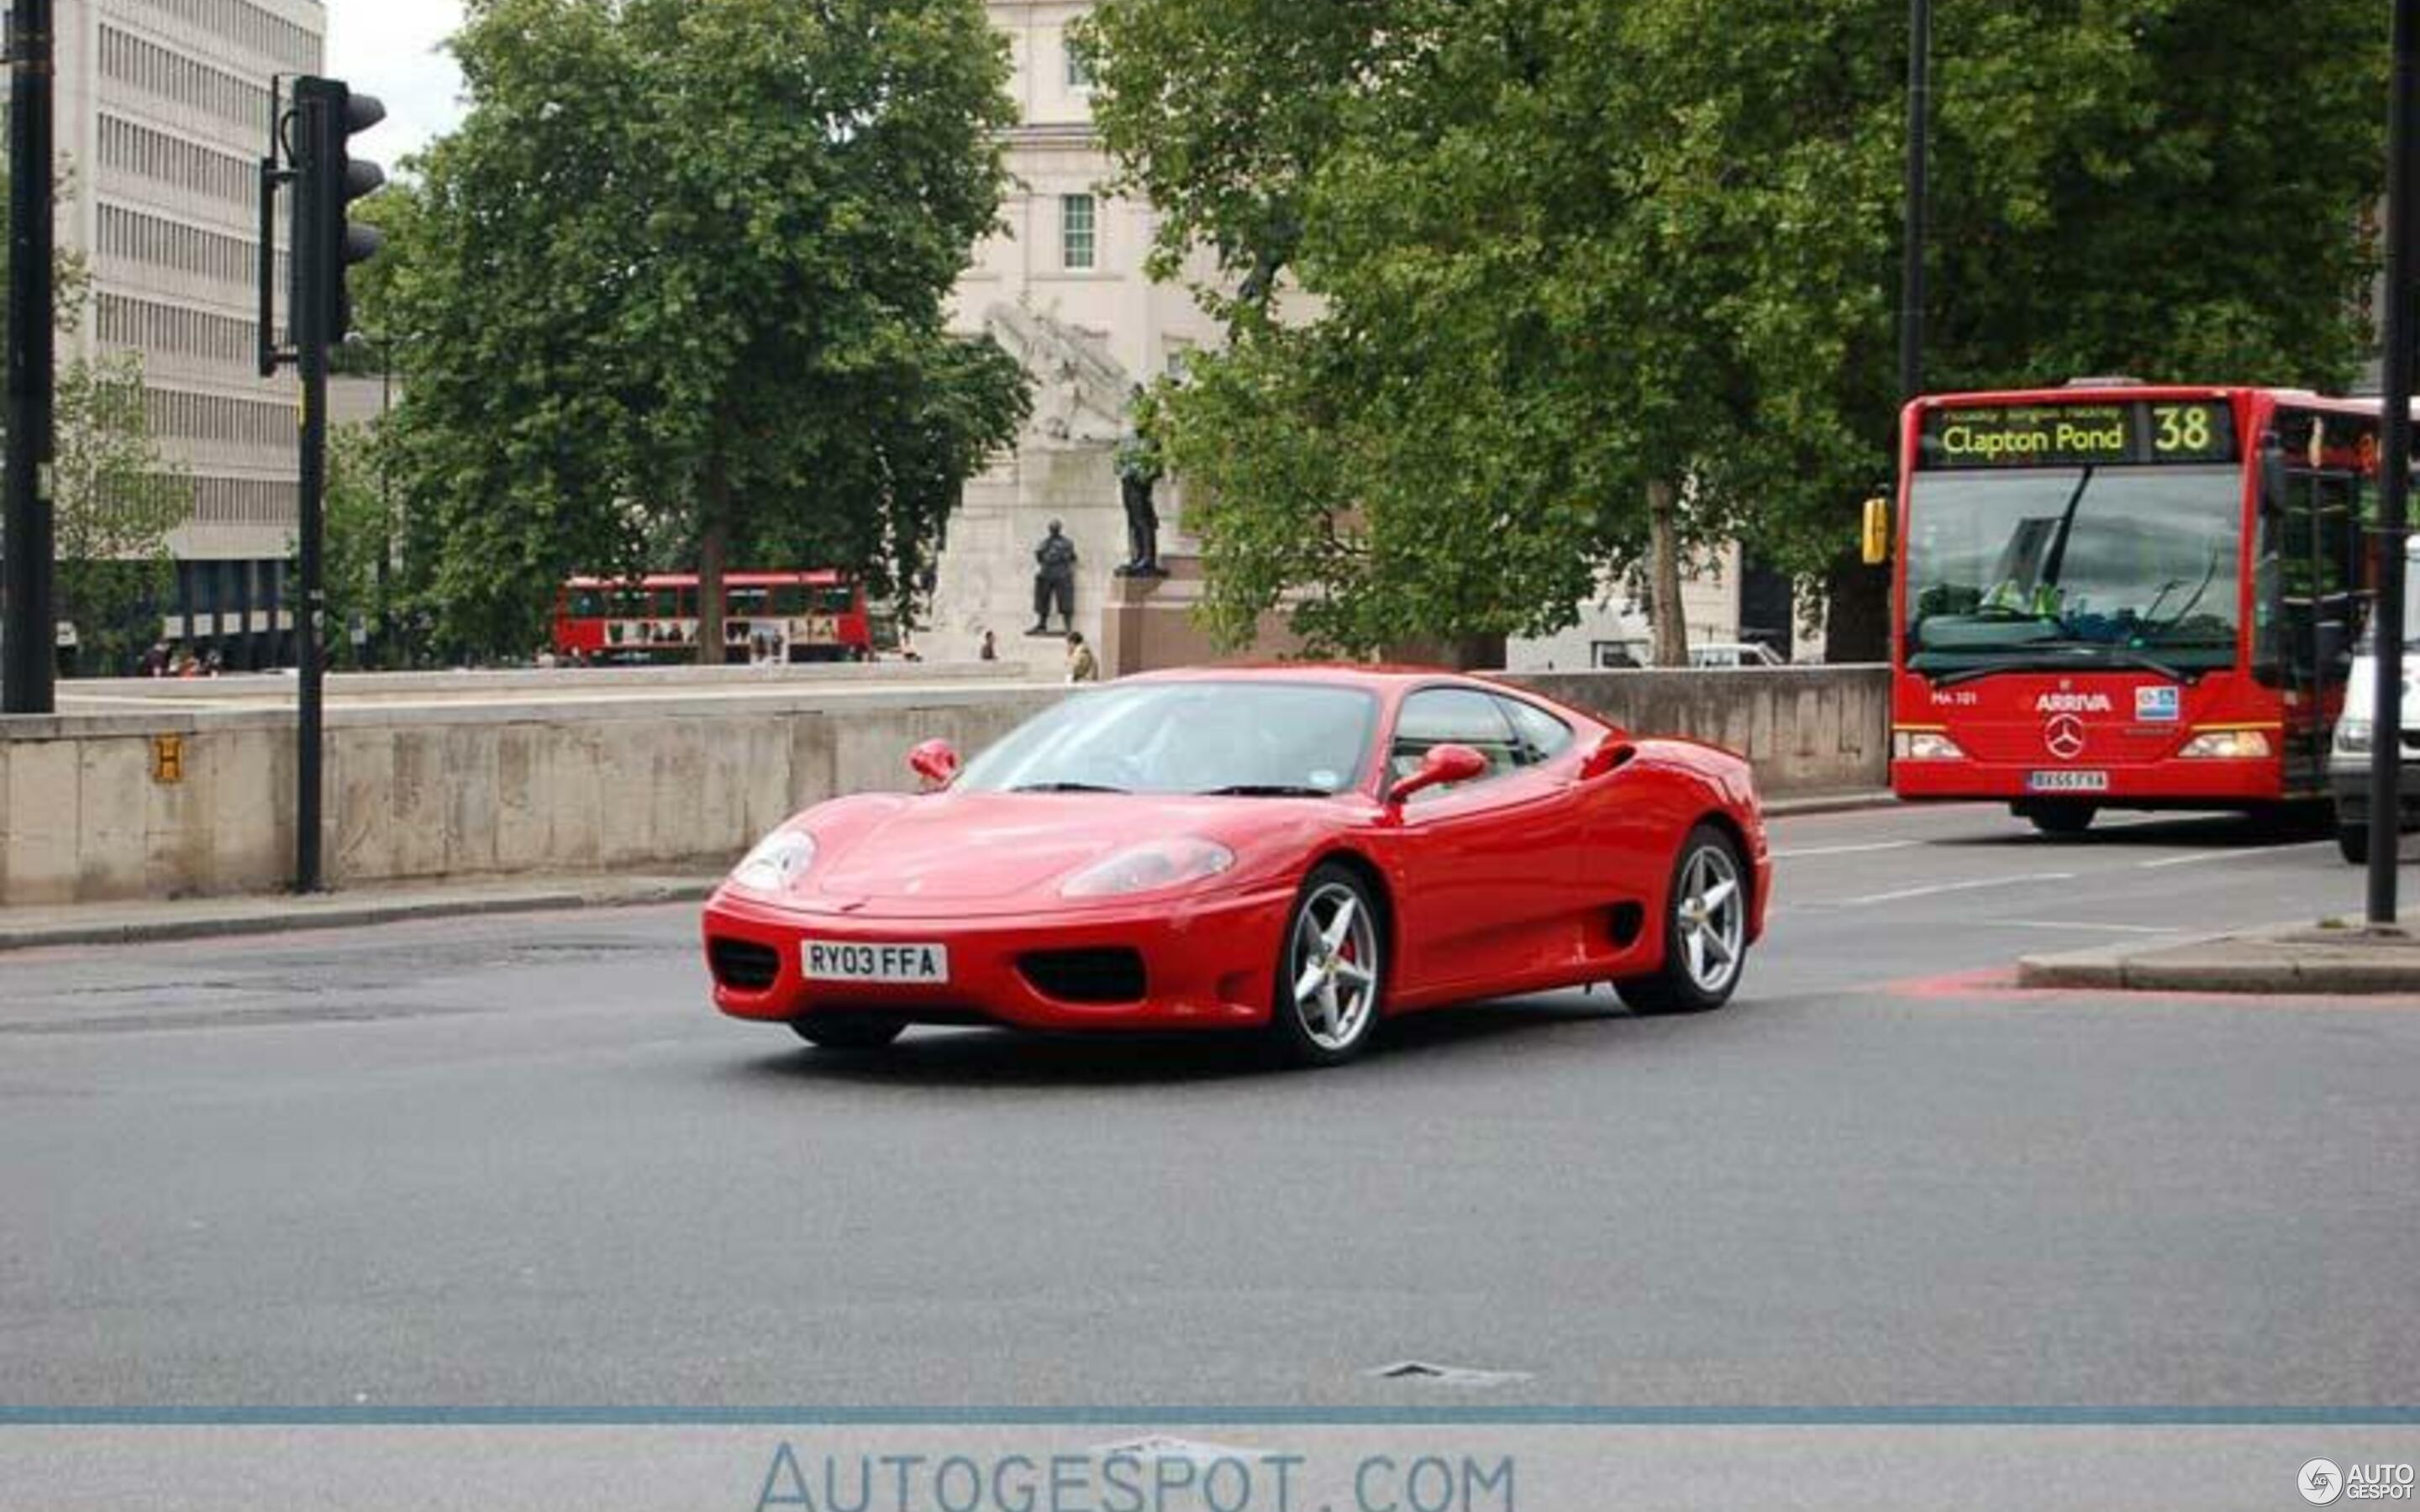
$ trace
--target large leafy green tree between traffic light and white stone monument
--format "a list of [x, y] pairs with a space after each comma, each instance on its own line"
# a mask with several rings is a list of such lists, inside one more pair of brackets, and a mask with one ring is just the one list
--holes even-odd
[[709, 658], [726, 561], [912, 583], [1026, 414], [946, 329], [1014, 121], [983, 5], [479, 0], [455, 51], [472, 109], [373, 295], [443, 631], [525, 648], [569, 571], [666, 539]]

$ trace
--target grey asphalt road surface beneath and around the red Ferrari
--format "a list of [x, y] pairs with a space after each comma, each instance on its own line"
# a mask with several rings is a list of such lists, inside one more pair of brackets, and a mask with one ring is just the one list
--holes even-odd
[[0, 1398], [2420, 1401], [2420, 1004], [2009, 987], [2355, 912], [2330, 844], [1776, 847], [1728, 1011], [1529, 999], [1331, 1074], [818, 1055], [711, 1014], [695, 907], [10, 956]]

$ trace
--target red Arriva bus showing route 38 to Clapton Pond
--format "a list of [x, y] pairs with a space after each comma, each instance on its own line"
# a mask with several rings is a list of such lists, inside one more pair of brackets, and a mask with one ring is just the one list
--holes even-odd
[[1907, 406], [1890, 784], [2050, 835], [2326, 796], [2369, 610], [2379, 404], [2292, 389]]

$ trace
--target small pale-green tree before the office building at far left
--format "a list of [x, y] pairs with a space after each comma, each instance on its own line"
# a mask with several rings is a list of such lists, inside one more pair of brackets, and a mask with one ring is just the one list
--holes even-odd
[[[0, 203], [7, 203], [0, 165]], [[60, 198], [73, 181], [60, 174]], [[0, 240], [0, 269], [10, 249]], [[53, 317], [73, 334], [92, 302], [92, 271], [73, 249], [53, 254]], [[0, 348], [7, 310], [0, 305]], [[53, 612], [75, 627], [77, 663], [111, 670], [157, 627], [136, 619], [167, 590], [167, 535], [194, 503], [191, 479], [152, 443], [143, 358], [70, 353], [58, 363], [51, 404]]]

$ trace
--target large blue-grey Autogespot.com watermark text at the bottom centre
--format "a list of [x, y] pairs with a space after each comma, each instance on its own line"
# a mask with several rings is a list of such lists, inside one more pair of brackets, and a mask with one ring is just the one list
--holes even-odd
[[[1331, 1473], [1333, 1471], [1333, 1473]], [[1312, 1488], [1319, 1485], [1314, 1495]], [[772, 1452], [755, 1512], [1515, 1512], [1510, 1456]], [[1341, 1493], [1341, 1495], [1338, 1495]]]

